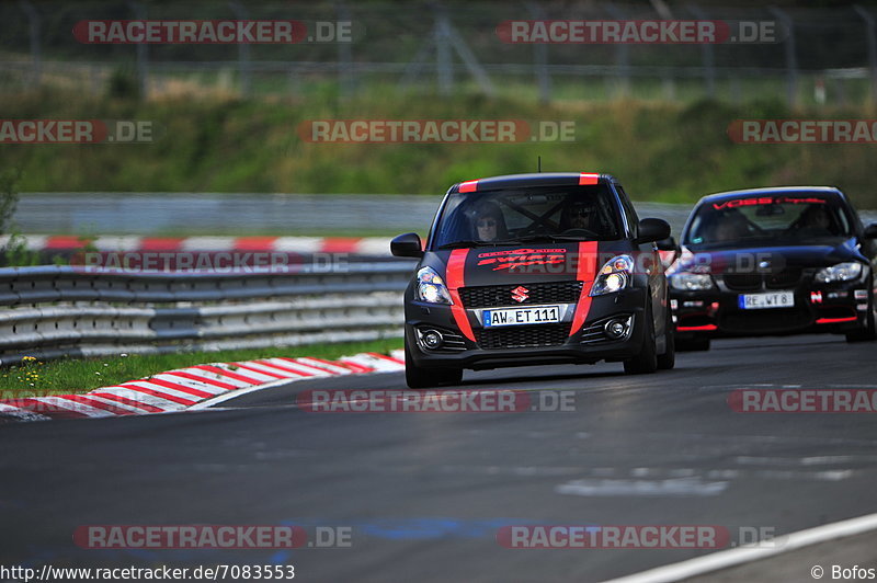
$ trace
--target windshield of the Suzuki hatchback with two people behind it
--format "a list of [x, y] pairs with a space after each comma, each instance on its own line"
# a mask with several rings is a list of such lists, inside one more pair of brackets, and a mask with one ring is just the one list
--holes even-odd
[[433, 248], [617, 239], [617, 215], [605, 184], [457, 193], [438, 218]]

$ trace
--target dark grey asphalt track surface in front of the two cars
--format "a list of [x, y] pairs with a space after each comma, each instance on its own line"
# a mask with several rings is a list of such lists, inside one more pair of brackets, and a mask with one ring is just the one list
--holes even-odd
[[[314, 413], [297, 381], [218, 410], [0, 426], [0, 564], [292, 563], [301, 581], [600, 581], [708, 550], [506, 549], [506, 525], [789, 533], [877, 511], [874, 413], [737, 413], [733, 389], [877, 388], [877, 344], [728, 340], [676, 369], [467, 373], [466, 388], [574, 391], [574, 411]], [[351, 527], [350, 548], [89, 550], [90, 524]], [[866, 558], [863, 558], [865, 560]], [[801, 564], [799, 580], [809, 580]], [[770, 579], [770, 578], [765, 578]]]

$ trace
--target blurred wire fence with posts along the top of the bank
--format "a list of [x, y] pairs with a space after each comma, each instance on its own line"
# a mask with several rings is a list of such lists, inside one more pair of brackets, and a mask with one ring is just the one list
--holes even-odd
[[[654, 7], [660, 7], [656, 10]], [[317, 2], [0, 4], [0, 91], [58, 85], [91, 94], [133, 89], [351, 98], [366, 91], [448, 95], [514, 92], [540, 102], [618, 96], [726, 101], [776, 98], [844, 105], [877, 99], [875, 11], [725, 8], [663, 2]], [[276, 20], [329, 26], [329, 42], [300, 44], [82, 44], [83, 20]], [[713, 20], [768, 22], [760, 44], [514, 44], [509, 20]], [[341, 28], [350, 34], [338, 42]]]

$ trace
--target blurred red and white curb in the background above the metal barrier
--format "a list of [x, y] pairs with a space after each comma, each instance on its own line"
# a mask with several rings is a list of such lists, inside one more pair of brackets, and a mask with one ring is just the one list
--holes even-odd
[[[278, 252], [278, 253], [351, 253], [389, 255], [386, 237], [136, 237], [99, 236], [82, 239], [72, 235], [25, 235], [27, 249], [46, 252], [81, 251], [89, 248], [103, 252]], [[9, 236], [0, 237], [0, 247]]]

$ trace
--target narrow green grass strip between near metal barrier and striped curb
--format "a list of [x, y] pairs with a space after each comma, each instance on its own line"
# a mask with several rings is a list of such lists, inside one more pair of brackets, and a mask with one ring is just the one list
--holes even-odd
[[118, 385], [127, 380], [205, 363], [252, 361], [275, 356], [338, 358], [361, 352], [401, 348], [402, 339], [384, 339], [371, 342], [341, 344], [312, 344], [308, 346], [251, 348], [221, 352], [192, 352], [159, 355], [113, 356], [104, 358], [65, 358], [43, 363], [36, 359], [22, 366], [0, 370], [0, 398], [21, 399], [47, 395], [70, 395]]

